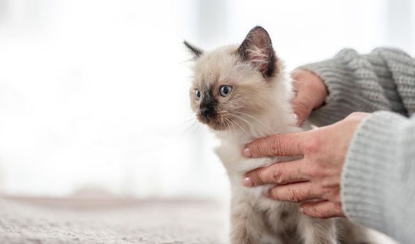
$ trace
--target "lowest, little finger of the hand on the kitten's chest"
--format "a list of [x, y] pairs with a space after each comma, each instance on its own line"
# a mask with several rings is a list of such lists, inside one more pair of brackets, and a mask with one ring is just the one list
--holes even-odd
[[345, 217], [341, 204], [332, 201], [308, 201], [301, 204], [299, 211], [315, 218]]

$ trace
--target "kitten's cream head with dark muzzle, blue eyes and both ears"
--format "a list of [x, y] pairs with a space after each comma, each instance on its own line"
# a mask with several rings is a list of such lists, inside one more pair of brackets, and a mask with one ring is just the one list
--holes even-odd
[[231, 124], [246, 124], [275, 107], [282, 65], [265, 29], [256, 26], [241, 45], [212, 52], [185, 45], [196, 62], [190, 97], [201, 123], [214, 130], [230, 130]]

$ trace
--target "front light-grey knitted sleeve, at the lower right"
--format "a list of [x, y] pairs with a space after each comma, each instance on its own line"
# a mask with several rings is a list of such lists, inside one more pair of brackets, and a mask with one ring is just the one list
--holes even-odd
[[415, 114], [368, 116], [354, 134], [340, 182], [348, 219], [414, 243]]

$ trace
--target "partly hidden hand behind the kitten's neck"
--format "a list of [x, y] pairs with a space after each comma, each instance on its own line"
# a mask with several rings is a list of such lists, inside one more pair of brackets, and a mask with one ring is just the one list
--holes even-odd
[[294, 70], [291, 74], [294, 79], [295, 98], [291, 101], [292, 108], [297, 115], [298, 125], [301, 125], [311, 111], [320, 107], [327, 96], [324, 82], [318, 75], [307, 70]]

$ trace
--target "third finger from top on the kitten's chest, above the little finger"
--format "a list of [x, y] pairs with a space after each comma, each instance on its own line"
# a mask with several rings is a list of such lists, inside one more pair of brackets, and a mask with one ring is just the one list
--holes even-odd
[[277, 185], [269, 192], [269, 197], [279, 201], [309, 201], [322, 197], [322, 191], [310, 181], [292, 183], [287, 185]]

